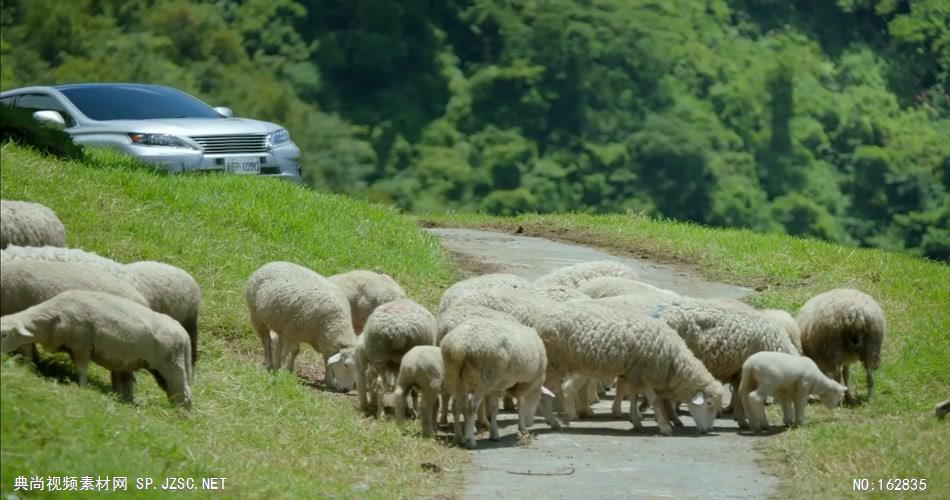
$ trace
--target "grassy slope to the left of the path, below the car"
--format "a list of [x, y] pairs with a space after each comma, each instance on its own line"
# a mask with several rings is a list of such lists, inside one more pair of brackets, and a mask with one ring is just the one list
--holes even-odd
[[[189, 415], [144, 373], [129, 405], [108, 393], [102, 368], [80, 389], [74, 379], [37, 376], [5, 358], [4, 494], [17, 476], [126, 476], [130, 493], [137, 477], [226, 477], [224, 493], [243, 498], [417, 497], [458, 484], [458, 474], [420, 464], [457, 471], [461, 450], [421, 439], [415, 427], [361, 418], [351, 399], [263, 370], [246, 319], [244, 283], [273, 260], [324, 275], [384, 271], [432, 305], [455, 275], [438, 242], [412, 220], [277, 180], [159, 175], [106, 153], [80, 164], [10, 145], [0, 152], [2, 197], [52, 208], [69, 246], [119, 261], [168, 262], [190, 271], [203, 293]], [[73, 373], [56, 359], [47, 372]], [[314, 361], [302, 353], [297, 365]]]

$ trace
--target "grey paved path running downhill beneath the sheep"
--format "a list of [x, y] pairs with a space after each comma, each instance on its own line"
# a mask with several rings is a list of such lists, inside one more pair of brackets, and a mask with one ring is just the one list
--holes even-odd
[[[508, 272], [534, 279], [552, 269], [588, 260], [612, 259], [636, 269], [641, 278], [694, 297], [739, 298], [751, 290], [706, 281], [686, 269], [616, 257], [588, 247], [469, 229], [433, 228], [443, 246], [478, 272]], [[609, 398], [609, 396], [608, 396]], [[652, 420], [635, 434], [626, 420], [610, 418], [610, 399], [594, 406], [595, 416], [552, 432], [538, 419], [527, 446], [518, 446], [515, 415], [499, 416], [502, 437], [479, 436], [466, 478], [466, 498], [765, 498], [778, 484], [758, 465], [752, 440], [735, 423], [716, 420], [707, 436], [694, 434], [692, 421], [672, 437], [658, 436]], [[624, 411], [627, 403], [624, 404]]]

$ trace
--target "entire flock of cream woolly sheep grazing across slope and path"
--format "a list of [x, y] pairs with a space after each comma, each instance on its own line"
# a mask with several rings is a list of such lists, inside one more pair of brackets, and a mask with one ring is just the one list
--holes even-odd
[[[194, 279], [168, 264], [121, 264], [65, 248], [65, 230], [46, 207], [0, 206], [2, 351], [31, 356], [34, 343], [65, 350], [81, 385], [91, 360], [129, 400], [132, 372], [145, 368], [172, 402], [189, 407], [201, 301]], [[293, 371], [300, 344], [309, 344], [323, 356], [325, 385], [355, 387], [361, 410], [381, 416], [384, 395], [394, 393], [403, 419], [412, 396], [428, 436], [437, 420], [448, 424], [451, 407], [455, 438], [466, 447], [476, 444], [476, 424], [498, 438], [502, 398], [517, 402], [519, 431], [539, 407], [557, 429], [555, 403], [564, 419], [590, 415], [610, 384], [614, 415], [630, 398], [635, 429], [649, 405], [669, 435], [683, 425], [677, 409], [685, 404], [697, 431], [709, 431], [724, 383], [735, 391], [740, 427], [768, 428], [768, 398], [780, 403], [786, 424], [800, 425], [810, 395], [829, 408], [851, 397], [853, 362], [864, 365], [870, 399], [885, 331], [881, 307], [857, 290], [817, 295], [793, 318], [656, 288], [612, 261], [533, 282], [470, 278], [445, 291], [436, 314], [385, 274], [324, 277], [289, 262], [261, 266], [245, 297], [265, 367]]]

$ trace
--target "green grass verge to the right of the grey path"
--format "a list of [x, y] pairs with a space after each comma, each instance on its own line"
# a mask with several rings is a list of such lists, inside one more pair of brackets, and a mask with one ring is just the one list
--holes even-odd
[[[521, 226], [527, 235], [687, 263], [710, 278], [755, 288], [758, 292], [748, 300], [757, 307], [783, 308], [793, 314], [806, 300], [832, 288], [869, 293], [881, 303], [888, 321], [872, 402], [833, 412], [812, 405], [803, 428], [761, 438], [756, 446], [766, 452], [782, 480], [782, 496], [844, 496], [852, 493], [852, 480], [859, 478], [870, 479], [875, 487], [878, 479], [886, 485], [891, 478], [923, 478], [928, 494], [950, 491], [946, 454], [950, 422], [937, 421], [933, 415], [934, 404], [950, 397], [950, 267], [946, 264], [637, 216], [426, 219], [441, 225], [502, 230]], [[851, 370], [852, 383], [863, 394], [859, 366]], [[781, 422], [775, 417], [773, 424]]]

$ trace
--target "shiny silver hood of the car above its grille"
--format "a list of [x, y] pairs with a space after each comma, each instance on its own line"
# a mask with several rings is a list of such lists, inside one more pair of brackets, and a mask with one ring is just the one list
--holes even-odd
[[179, 136], [269, 134], [281, 127], [249, 118], [165, 118], [160, 120], [109, 120], [83, 124], [82, 132], [171, 134]]

